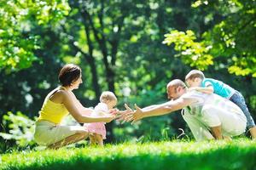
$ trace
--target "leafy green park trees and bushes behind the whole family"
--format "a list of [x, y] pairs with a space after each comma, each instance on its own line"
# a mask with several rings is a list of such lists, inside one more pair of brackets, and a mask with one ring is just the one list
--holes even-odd
[[[255, 0], [52, 0], [0, 2], [1, 153], [35, 146], [32, 128], [67, 63], [83, 70], [74, 93], [118, 108], [167, 101], [166, 83], [191, 69], [243, 94], [256, 118]], [[179, 111], [135, 125], [107, 124], [108, 143], [191, 138]]]

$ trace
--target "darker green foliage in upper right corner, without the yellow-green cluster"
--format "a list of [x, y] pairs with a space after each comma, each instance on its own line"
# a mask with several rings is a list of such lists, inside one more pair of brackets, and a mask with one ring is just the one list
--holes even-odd
[[[202, 42], [210, 42], [209, 54], [214, 58], [224, 57], [228, 70], [236, 76], [256, 77], [256, 2], [244, 1], [196, 1], [194, 8], [219, 11], [223, 19], [212, 29], [204, 32]], [[226, 61], [224, 62], [224, 65]]]

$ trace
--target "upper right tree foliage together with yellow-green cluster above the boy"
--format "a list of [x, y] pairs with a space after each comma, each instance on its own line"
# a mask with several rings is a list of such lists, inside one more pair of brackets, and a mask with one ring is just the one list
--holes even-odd
[[[199, 42], [195, 42], [195, 33], [187, 31], [171, 31], [166, 34], [165, 43], [175, 43], [175, 49], [179, 52], [185, 63], [204, 70], [212, 65], [213, 59], [222, 61], [228, 67], [230, 73], [237, 76], [251, 75], [256, 77], [256, 28], [255, 8], [256, 2], [252, 1], [196, 1], [194, 8], [204, 8], [218, 14], [213, 17], [220, 18], [211, 29], [199, 35]], [[211, 13], [207, 13], [209, 15]], [[200, 42], [201, 41], [201, 42]]]

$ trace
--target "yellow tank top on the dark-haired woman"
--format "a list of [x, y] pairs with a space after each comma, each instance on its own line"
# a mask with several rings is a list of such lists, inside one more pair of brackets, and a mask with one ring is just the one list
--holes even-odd
[[46, 98], [44, 99], [44, 104], [41, 111], [39, 111], [38, 121], [49, 121], [56, 124], [60, 124], [65, 116], [68, 115], [68, 111], [63, 104], [56, 104], [53, 101], [49, 100], [49, 97], [60, 88], [55, 88], [51, 91]]

